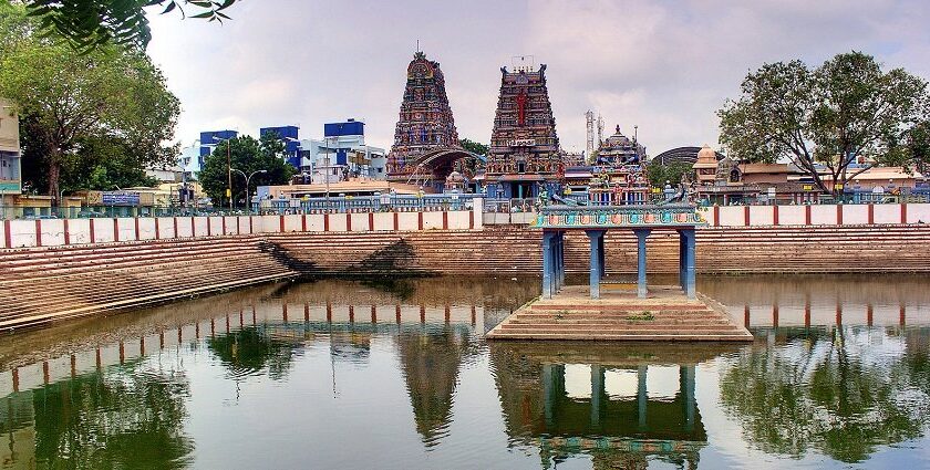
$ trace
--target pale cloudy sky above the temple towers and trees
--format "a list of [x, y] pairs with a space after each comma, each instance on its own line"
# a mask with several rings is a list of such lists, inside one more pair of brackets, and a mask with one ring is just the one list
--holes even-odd
[[182, 102], [176, 138], [200, 130], [365, 122], [390, 148], [417, 41], [441, 64], [459, 137], [487, 143], [503, 65], [547, 64], [556, 130], [585, 149], [600, 114], [650, 156], [716, 147], [715, 112], [746, 73], [850, 50], [930, 80], [930, 2], [922, 0], [317, 1], [240, 0], [223, 24], [149, 14], [148, 53]]

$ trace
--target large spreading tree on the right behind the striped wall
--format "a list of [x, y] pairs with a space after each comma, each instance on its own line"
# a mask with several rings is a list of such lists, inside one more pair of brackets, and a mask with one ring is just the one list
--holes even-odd
[[[789, 159], [824, 192], [835, 192], [895, 155], [908, 127], [926, 116], [927, 83], [902, 69], [882, 72], [861, 52], [838, 54], [817, 70], [800, 61], [750, 73], [742, 96], [717, 112], [720, 142], [742, 161]], [[855, 173], [850, 164], [867, 161]], [[822, 170], [836, 186], [822, 178]]]

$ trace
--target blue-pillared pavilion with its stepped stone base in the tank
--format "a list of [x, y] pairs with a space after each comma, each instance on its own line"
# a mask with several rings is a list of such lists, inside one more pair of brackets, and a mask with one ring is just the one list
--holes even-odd
[[[680, 206], [545, 207], [535, 227], [542, 230], [542, 296], [492, 330], [489, 340], [752, 341], [726, 310], [695, 289], [695, 228], [706, 221], [696, 208]], [[679, 285], [647, 284], [647, 238], [653, 229], [679, 234]], [[632, 230], [637, 237], [636, 293], [607, 284], [604, 234]], [[566, 285], [566, 231], [583, 231], [590, 246], [589, 283]]]

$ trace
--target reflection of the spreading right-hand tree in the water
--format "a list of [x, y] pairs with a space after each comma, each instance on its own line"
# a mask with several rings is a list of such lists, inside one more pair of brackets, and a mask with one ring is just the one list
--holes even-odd
[[799, 457], [813, 448], [862, 461], [879, 445], [926, 431], [928, 337], [930, 328], [902, 337], [847, 326], [757, 343], [726, 361], [722, 405], [766, 452]]

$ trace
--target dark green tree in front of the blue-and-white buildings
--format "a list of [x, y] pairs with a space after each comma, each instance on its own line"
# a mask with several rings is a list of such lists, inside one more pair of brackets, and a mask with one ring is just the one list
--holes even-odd
[[[204, 191], [216, 207], [225, 206], [224, 201], [228, 201], [226, 198], [227, 146], [229, 146], [229, 159], [234, 169], [246, 175], [258, 170], [267, 171], [256, 174], [251, 178], [249, 181], [251, 188], [261, 185], [285, 185], [297, 171], [285, 160], [285, 143], [273, 133], [261, 136], [261, 140], [256, 140], [251, 136], [240, 136], [220, 142], [204, 159], [204, 167], [197, 175]], [[232, 171], [232, 196], [237, 201], [247, 199], [246, 179], [237, 171]]]

